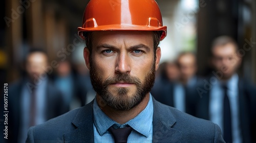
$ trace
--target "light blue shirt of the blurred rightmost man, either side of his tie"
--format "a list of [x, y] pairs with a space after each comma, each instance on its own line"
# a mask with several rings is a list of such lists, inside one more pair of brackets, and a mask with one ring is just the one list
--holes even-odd
[[[230, 102], [230, 111], [232, 117], [232, 140], [233, 143], [242, 142], [241, 128], [239, 122], [239, 102], [238, 102], [238, 82], [239, 77], [237, 74], [233, 75], [227, 81], [227, 96]], [[221, 87], [221, 82], [218, 81], [212, 86], [210, 90], [209, 100], [209, 116], [210, 121], [220, 126], [223, 133], [223, 102], [224, 91]]]

